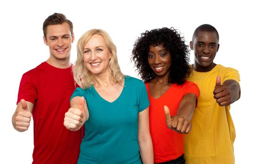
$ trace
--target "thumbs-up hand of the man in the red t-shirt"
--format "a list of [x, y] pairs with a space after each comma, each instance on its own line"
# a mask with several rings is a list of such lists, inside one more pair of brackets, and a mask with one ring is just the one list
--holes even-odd
[[17, 115], [15, 117], [16, 130], [19, 132], [24, 132], [28, 130], [30, 125], [32, 113], [28, 109], [28, 105], [24, 99], [20, 100], [21, 107], [18, 109]]

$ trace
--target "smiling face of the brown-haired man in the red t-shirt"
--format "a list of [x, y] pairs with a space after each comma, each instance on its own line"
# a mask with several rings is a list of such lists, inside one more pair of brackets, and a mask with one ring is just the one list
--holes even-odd
[[73, 41], [74, 35], [70, 31], [68, 23], [47, 26], [44, 43], [49, 47], [50, 59], [69, 60]]

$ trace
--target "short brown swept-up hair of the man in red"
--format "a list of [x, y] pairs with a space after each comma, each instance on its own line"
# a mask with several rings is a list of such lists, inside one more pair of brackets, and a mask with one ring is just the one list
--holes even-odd
[[73, 23], [68, 20], [65, 15], [60, 13], [54, 13], [53, 15], [48, 16], [48, 18], [46, 18], [43, 23], [44, 37], [46, 37], [46, 28], [48, 25], [62, 24], [64, 22], [67, 22], [69, 24], [71, 34], [73, 34]]

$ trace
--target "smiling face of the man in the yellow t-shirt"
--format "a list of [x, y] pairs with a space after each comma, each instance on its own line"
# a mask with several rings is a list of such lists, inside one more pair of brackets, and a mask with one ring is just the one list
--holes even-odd
[[216, 64], [213, 62], [219, 49], [216, 32], [199, 31], [198, 35], [190, 42], [191, 50], [194, 50], [193, 68], [198, 72], [208, 72]]

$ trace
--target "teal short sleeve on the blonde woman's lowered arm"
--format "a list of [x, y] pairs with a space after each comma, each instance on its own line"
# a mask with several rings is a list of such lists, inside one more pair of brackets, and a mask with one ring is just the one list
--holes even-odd
[[144, 82], [139, 81], [137, 86], [138, 86], [138, 89], [137, 89], [138, 109], [139, 109], [139, 112], [142, 112], [144, 111], [144, 109], [146, 109], [149, 106], [148, 94], [147, 94], [147, 89]]

